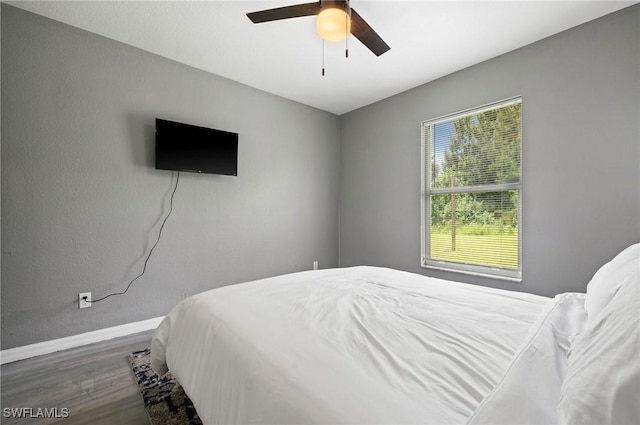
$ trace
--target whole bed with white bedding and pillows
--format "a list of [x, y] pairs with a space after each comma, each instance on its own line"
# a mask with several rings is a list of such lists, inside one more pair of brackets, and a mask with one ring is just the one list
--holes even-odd
[[207, 424], [638, 424], [640, 245], [554, 298], [380, 267], [189, 297], [154, 333]]

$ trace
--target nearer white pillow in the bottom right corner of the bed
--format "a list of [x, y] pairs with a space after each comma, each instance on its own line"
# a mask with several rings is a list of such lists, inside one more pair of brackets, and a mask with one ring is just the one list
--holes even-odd
[[557, 406], [561, 424], [640, 424], [640, 264], [630, 261], [621, 261], [628, 270], [619, 280], [596, 281], [607, 287], [598, 287], [592, 308], [600, 310], [571, 344]]

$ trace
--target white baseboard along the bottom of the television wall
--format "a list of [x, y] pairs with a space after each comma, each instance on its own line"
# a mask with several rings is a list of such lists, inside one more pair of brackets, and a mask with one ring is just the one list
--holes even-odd
[[41, 356], [43, 354], [55, 353], [56, 351], [81, 347], [83, 345], [107, 341], [120, 336], [152, 330], [158, 327], [162, 319], [164, 319], [164, 317], [156, 317], [153, 319], [142, 320], [140, 322], [127, 323], [126, 325], [98, 329], [97, 331], [87, 332], [80, 335], [38, 342], [36, 344], [23, 345], [22, 347], [9, 348], [8, 350], [0, 351], [0, 364], [12, 363], [18, 360]]

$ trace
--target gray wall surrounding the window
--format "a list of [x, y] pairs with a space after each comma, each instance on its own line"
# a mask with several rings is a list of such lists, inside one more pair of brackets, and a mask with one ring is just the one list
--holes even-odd
[[[342, 116], [340, 265], [584, 291], [599, 265], [640, 239], [639, 40], [636, 5]], [[522, 283], [421, 268], [420, 123], [515, 95]]]

